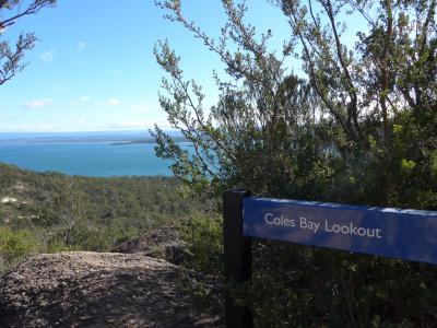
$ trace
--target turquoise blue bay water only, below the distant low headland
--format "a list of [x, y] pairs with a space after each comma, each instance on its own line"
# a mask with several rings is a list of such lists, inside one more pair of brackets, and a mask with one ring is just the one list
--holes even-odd
[[0, 162], [37, 172], [51, 171], [68, 175], [172, 175], [168, 168], [172, 163], [156, 157], [153, 148], [153, 143], [0, 142]]

